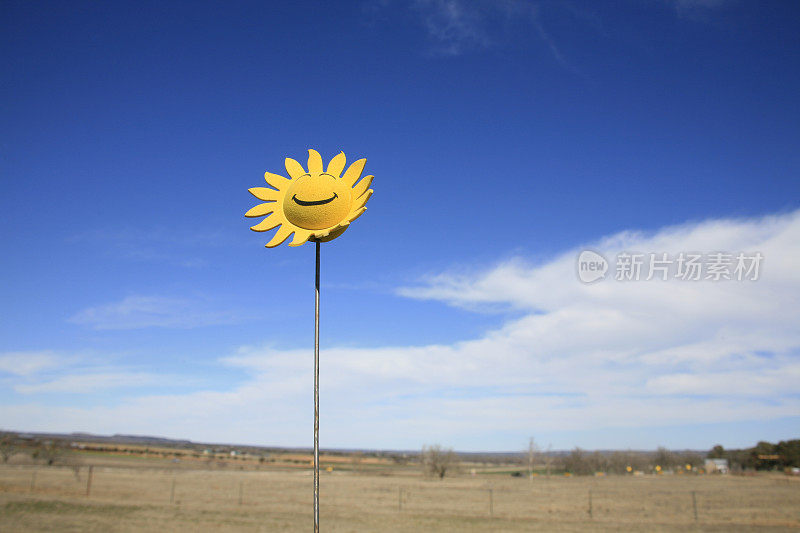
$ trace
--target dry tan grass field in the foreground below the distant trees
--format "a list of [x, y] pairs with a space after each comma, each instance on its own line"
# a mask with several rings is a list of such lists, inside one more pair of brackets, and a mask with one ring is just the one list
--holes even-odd
[[[312, 528], [307, 466], [201, 469], [95, 457], [87, 496], [86, 464], [0, 467], [0, 531]], [[779, 474], [530, 480], [479, 473], [440, 481], [411, 468], [363, 468], [323, 471], [320, 486], [324, 531], [800, 530], [800, 480]]]

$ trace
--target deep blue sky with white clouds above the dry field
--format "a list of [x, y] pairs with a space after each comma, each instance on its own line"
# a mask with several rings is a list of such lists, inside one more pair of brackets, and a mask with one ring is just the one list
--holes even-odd
[[799, 436], [797, 5], [0, 10], [0, 428], [309, 446], [314, 250], [243, 214], [314, 148], [375, 175], [322, 248], [323, 447]]

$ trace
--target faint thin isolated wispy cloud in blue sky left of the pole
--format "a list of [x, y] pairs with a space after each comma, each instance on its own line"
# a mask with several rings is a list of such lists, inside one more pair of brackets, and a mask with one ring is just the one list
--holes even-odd
[[196, 328], [231, 324], [237, 316], [231, 311], [213, 310], [201, 299], [128, 296], [119, 302], [84, 309], [70, 321], [98, 330]]

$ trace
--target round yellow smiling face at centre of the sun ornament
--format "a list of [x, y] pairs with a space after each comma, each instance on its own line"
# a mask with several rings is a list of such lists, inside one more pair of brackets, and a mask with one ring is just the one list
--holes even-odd
[[351, 190], [341, 178], [327, 172], [303, 174], [292, 180], [286, 191], [283, 213], [300, 228], [330, 228], [350, 212]]

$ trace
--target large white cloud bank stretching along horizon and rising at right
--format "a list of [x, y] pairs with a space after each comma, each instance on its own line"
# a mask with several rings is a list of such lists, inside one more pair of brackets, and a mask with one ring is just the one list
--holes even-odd
[[[646, 427], [638, 442], [612, 445], [655, 447], [664, 441], [652, 436], [654, 427], [800, 414], [800, 211], [623, 232], [587, 247], [607, 258], [622, 250], [758, 251], [764, 261], [758, 281], [585, 285], [575, 272], [583, 247], [576, 247], [539, 264], [516, 259], [432, 276], [401, 294], [510, 307], [515, 318], [449, 345], [323, 346], [324, 446], [508, 449], [530, 434]], [[302, 445], [309, 440], [312, 361], [308, 349], [242, 347], [221, 363], [248, 378], [226, 391], [90, 408], [16, 405], [0, 423]], [[695, 438], [679, 445], [715, 443], [713, 436]], [[742, 438], [747, 444], [769, 436]], [[593, 445], [561, 446], [574, 444]]]

